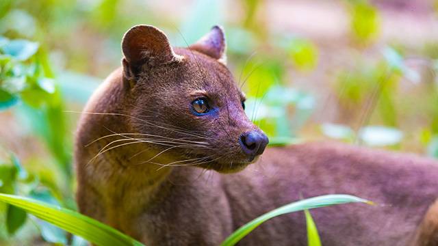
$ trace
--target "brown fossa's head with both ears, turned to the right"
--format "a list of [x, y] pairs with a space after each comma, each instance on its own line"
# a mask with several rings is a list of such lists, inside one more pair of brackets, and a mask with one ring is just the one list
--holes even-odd
[[181, 157], [168, 165], [236, 172], [263, 153], [268, 137], [244, 112], [221, 27], [173, 49], [162, 31], [138, 25], [125, 33], [122, 49], [132, 125], [156, 139], [150, 144], [156, 152]]

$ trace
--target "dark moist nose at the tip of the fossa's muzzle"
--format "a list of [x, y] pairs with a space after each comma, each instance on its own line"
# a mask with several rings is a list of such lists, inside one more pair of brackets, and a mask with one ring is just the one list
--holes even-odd
[[258, 131], [246, 132], [240, 136], [242, 150], [251, 157], [262, 154], [268, 143], [268, 137]]

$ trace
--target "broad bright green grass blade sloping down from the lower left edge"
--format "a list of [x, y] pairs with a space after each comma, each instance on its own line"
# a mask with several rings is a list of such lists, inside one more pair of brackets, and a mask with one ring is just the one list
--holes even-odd
[[81, 236], [95, 245], [142, 245], [142, 243], [122, 232], [73, 210], [53, 206], [27, 197], [3, 193], [0, 193], [0, 202], [22, 208], [27, 213], [53, 223], [53, 225], [67, 232]]

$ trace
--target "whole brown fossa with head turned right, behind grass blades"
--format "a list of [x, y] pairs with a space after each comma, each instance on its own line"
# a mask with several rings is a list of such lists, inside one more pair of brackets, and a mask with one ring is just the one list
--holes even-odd
[[[307, 143], [268, 148], [250, 164], [267, 139], [244, 114], [220, 28], [191, 49], [172, 49], [155, 27], [133, 27], [123, 53], [123, 68], [79, 122], [81, 213], [146, 245], [218, 245], [269, 210], [344, 193], [377, 205], [311, 210], [324, 245], [438, 245], [432, 159]], [[276, 217], [240, 241], [306, 244], [302, 213]]]

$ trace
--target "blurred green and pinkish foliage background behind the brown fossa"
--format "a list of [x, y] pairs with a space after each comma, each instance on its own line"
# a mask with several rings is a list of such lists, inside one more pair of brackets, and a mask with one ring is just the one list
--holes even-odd
[[[248, 117], [272, 145], [336, 139], [438, 158], [438, 1], [1, 0], [1, 193], [75, 209], [78, 112], [141, 23], [174, 46], [222, 25]], [[0, 204], [0, 245], [84, 243]]]

